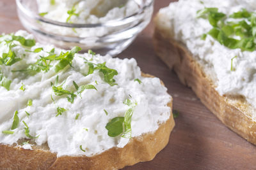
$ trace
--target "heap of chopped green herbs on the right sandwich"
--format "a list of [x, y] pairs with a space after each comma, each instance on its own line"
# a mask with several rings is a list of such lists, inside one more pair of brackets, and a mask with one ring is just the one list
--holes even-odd
[[[240, 48], [242, 51], [253, 52], [256, 49], [256, 13], [245, 9], [237, 11], [230, 16], [218, 11], [218, 8], [204, 8], [196, 12], [197, 17], [207, 18], [212, 25], [211, 31], [207, 32], [221, 45], [230, 49]], [[228, 18], [238, 18], [227, 22]], [[239, 36], [239, 38], [236, 38]], [[205, 34], [202, 39], [205, 39]]]

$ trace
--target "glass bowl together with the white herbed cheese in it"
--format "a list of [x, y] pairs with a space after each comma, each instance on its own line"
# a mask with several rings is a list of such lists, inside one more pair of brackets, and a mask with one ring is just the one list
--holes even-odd
[[116, 55], [152, 17], [153, 0], [16, 0], [20, 21], [40, 43]]

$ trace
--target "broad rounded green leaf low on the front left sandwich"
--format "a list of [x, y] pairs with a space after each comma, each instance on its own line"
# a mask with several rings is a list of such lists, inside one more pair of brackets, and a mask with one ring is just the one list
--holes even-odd
[[123, 132], [124, 117], [113, 118], [107, 125], [108, 136], [116, 137]]

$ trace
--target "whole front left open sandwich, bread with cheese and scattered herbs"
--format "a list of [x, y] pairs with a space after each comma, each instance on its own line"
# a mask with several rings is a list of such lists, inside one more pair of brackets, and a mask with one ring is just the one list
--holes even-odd
[[152, 160], [172, 97], [134, 59], [66, 51], [25, 31], [0, 37], [1, 169], [120, 169]]

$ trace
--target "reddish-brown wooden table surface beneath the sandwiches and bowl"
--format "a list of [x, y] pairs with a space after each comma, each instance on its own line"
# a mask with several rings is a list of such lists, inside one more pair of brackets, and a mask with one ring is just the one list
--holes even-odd
[[[170, 0], [156, 0], [155, 14]], [[23, 29], [15, 10], [14, 0], [0, 1], [0, 31]], [[128, 169], [256, 169], [256, 147], [221, 124], [191, 89], [182, 85], [173, 71], [154, 54], [152, 22], [120, 58], [134, 57], [145, 73], [164, 81], [173, 96], [173, 107], [180, 111], [170, 142], [154, 160]]]

